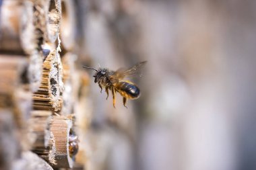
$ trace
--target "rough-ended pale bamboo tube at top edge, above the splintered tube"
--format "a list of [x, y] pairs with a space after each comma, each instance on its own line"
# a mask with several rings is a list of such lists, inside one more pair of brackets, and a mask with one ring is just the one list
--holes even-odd
[[55, 42], [59, 34], [61, 21], [61, 0], [32, 0], [34, 2], [34, 15], [36, 28], [43, 32], [46, 42]]

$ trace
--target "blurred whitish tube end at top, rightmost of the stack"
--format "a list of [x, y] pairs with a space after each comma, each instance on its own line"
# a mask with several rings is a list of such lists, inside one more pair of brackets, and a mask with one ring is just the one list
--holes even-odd
[[72, 51], [75, 46], [76, 17], [74, 1], [61, 1], [61, 44], [63, 50]]

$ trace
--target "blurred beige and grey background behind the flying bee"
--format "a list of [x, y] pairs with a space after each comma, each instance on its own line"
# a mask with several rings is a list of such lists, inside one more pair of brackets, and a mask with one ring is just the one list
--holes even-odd
[[85, 169], [256, 169], [256, 1], [73, 3], [77, 69], [148, 60], [128, 109], [83, 70]]

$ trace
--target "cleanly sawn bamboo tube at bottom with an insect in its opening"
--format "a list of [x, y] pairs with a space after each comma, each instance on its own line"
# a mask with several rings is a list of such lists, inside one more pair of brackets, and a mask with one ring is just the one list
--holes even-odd
[[[39, 115], [44, 116], [44, 113], [41, 112]], [[73, 167], [73, 159], [78, 151], [78, 138], [71, 130], [72, 122], [72, 116], [51, 117], [49, 146], [42, 147], [42, 140], [40, 140], [40, 146], [36, 146], [32, 151], [55, 168]], [[42, 132], [42, 126], [37, 129], [41, 129], [38, 131]]]

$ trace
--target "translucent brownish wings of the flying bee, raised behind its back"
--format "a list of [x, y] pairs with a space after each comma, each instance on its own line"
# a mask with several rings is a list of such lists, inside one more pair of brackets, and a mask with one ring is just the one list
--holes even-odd
[[147, 61], [142, 61], [130, 67], [129, 69], [120, 68], [113, 75], [110, 76], [112, 83], [115, 83], [125, 77], [133, 77], [140, 73], [141, 68], [146, 64]]

